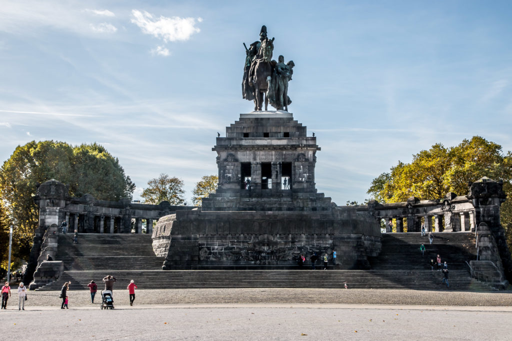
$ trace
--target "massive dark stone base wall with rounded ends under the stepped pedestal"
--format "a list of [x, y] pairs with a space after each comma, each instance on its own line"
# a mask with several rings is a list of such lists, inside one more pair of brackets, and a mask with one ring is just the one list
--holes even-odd
[[368, 268], [368, 257], [380, 252], [378, 224], [355, 208], [335, 214], [182, 211], [162, 218], [153, 240], [155, 249], [168, 249], [164, 269], [293, 268], [301, 254], [309, 264], [314, 252], [332, 259], [333, 251], [338, 268]]

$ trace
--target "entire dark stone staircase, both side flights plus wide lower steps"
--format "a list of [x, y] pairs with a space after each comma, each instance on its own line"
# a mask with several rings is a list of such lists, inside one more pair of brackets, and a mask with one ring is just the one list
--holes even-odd
[[[435, 234], [434, 244], [419, 233], [386, 234], [382, 253], [371, 260], [371, 270], [310, 270], [309, 262], [298, 269], [171, 270], [163, 271], [163, 258], [154, 255], [151, 236], [143, 234], [81, 234], [78, 244], [71, 235], [59, 236], [57, 260], [65, 263], [58, 281], [38, 290], [59, 290], [71, 281], [71, 290], [86, 290], [94, 280], [102, 288], [106, 275], [117, 278], [116, 289], [134, 280], [139, 289], [191, 288], [349, 288], [446, 290], [442, 274], [431, 271], [430, 259], [439, 253], [448, 262], [450, 290], [491, 291], [492, 287], [471, 279], [465, 261], [476, 259], [471, 233]], [[419, 245], [425, 244], [421, 257]], [[108, 257], [106, 257], [108, 255]], [[319, 262], [321, 263], [321, 262]]]

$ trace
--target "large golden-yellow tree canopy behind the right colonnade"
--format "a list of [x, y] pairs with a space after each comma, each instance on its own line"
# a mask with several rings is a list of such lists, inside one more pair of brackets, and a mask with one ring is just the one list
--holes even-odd
[[435, 144], [413, 155], [411, 163], [398, 161], [390, 172], [372, 180], [367, 193], [379, 202], [439, 199], [448, 192], [466, 195], [469, 184], [482, 176], [503, 180], [507, 200], [501, 205], [501, 223], [512, 245], [512, 152], [475, 136], [455, 147]]

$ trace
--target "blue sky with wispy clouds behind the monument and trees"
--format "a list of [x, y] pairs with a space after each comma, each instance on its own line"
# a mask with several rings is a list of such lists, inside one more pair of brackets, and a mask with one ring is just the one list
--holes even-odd
[[511, 17], [509, 1], [0, 0], [0, 162], [32, 140], [97, 142], [134, 199], [167, 173], [190, 203], [217, 132], [253, 109], [242, 43], [266, 25], [322, 148], [318, 192], [361, 202], [436, 143], [512, 150]]

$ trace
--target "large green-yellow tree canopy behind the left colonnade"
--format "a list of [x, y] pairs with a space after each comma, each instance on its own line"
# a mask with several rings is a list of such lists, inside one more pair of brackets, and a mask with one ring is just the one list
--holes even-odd
[[[71, 146], [58, 141], [31, 141], [18, 146], [0, 169], [0, 200], [3, 212], [14, 225], [13, 250], [26, 258], [32, 247], [39, 211], [33, 201], [38, 184], [56, 179], [69, 185], [72, 196], [89, 193], [101, 200], [132, 197], [135, 184], [125, 175], [119, 160], [101, 145]], [[3, 259], [6, 251], [0, 250]]]

